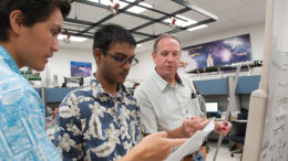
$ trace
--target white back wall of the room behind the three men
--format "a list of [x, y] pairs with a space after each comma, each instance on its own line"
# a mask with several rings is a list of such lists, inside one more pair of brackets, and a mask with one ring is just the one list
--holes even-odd
[[[240, 34], [250, 34], [251, 50], [253, 50], [253, 60], [263, 60], [263, 50], [264, 50], [264, 30], [265, 23], [255, 24], [247, 28], [235, 29], [232, 31], [225, 31], [209, 37], [192, 40], [182, 42], [183, 46], [196, 45], [200, 43], [206, 43], [210, 41], [216, 41], [225, 37], [236, 36]], [[145, 45], [145, 44], [144, 44]], [[151, 51], [145, 53], [136, 53], [136, 57], [140, 60], [140, 64], [132, 67], [127, 79], [145, 79], [150, 76], [151, 72], [154, 68], [154, 62], [152, 61], [152, 46]], [[63, 77], [69, 77], [70, 72], [70, 62], [91, 62], [92, 71], [95, 72], [96, 66], [94, 63], [94, 57], [91, 50], [70, 50], [61, 49], [59, 52], [54, 53], [53, 57], [50, 58], [48, 67], [44, 72], [41, 73], [43, 79], [47, 77], [47, 73], [50, 73], [50, 79], [53, 79], [53, 75], [58, 75], [58, 83], [63, 83]], [[258, 72], [259, 73], [259, 72]], [[213, 77], [213, 76], [210, 76]]]

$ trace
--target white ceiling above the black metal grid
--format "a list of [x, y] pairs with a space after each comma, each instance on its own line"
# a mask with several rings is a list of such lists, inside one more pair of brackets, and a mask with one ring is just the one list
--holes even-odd
[[[260, 22], [265, 22], [266, 0], [186, 0], [186, 1], [188, 1], [193, 6], [202, 8], [215, 14], [216, 17], [218, 17], [218, 21], [208, 23], [208, 28], [204, 28], [193, 32], [181, 31], [175, 33], [174, 35], [176, 35], [182, 42], [188, 41], [192, 37], [196, 40], [196, 39], [209, 36], [212, 34], [220, 33], [223, 31], [240, 29]], [[154, 7], [154, 9], [164, 11], [166, 13], [171, 13], [175, 10], [184, 8], [179, 4], [172, 2], [171, 0], [145, 0], [144, 2], [150, 3]], [[109, 14], [110, 12], [105, 9], [73, 2], [72, 10], [69, 18], [74, 19], [76, 17], [80, 20], [96, 22]], [[162, 17], [162, 14], [153, 13], [151, 11], [144, 11], [141, 14], [148, 15], [155, 19]], [[182, 15], [196, 21], [200, 21], [204, 19], [203, 15], [200, 15], [199, 13], [191, 12], [191, 11]], [[106, 21], [105, 23], [117, 23], [123, 25], [126, 29], [133, 29], [145, 22], [148, 21], [132, 15], [127, 15], [127, 14], [117, 14], [116, 17]], [[64, 22], [64, 28], [65, 26], [69, 26], [68, 22]], [[80, 25], [76, 26], [75, 29], [83, 30], [85, 28]], [[153, 33], [158, 34], [171, 30], [173, 30], [171, 26], [154, 23], [153, 25], [141, 29], [140, 31], [148, 34], [153, 34]], [[94, 31], [95, 30], [91, 30], [90, 32], [93, 33]], [[138, 35], [135, 35], [136, 40], [137, 36]], [[71, 42], [70, 44], [65, 44], [62, 41], [60, 41], [60, 49], [91, 50], [92, 43], [93, 43], [92, 40], [88, 40], [83, 43]], [[145, 42], [141, 47], [136, 50], [136, 53], [151, 51], [152, 46], [153, 46], [153, 41]]]

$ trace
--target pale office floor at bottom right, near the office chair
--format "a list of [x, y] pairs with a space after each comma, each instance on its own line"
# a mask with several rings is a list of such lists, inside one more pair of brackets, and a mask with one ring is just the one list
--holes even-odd
[[[217, 147], [217, 142], [208, 142], [209, 152], [207, 153], [206, 161], [213, 161], [214, 153]], [[218, 150], [216, 161], [240, 161], [240, 154], [235, 154], [234, 158], [230, 157], [229, 144], [222, 143]]]

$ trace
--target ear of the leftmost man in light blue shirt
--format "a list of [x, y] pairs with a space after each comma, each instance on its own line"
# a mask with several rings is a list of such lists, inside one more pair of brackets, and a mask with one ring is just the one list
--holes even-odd
[[24, 14], [20, 10], [14, 10], [9, 15], [11, 30], [14, 33], [20, 33], [21, 26], [23, 26]]

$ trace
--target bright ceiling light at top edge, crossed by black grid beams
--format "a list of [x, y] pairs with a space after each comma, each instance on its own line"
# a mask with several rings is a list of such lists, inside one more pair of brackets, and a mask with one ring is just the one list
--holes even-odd
[[[95, 3], [101, 3], [103, 6], [111, 6], [112, 4], [112, 2], [110, 0], [89, 0], [89, 1], [92, 1], [92, 2], [95, 2]], [[134, 2], [135, 0], [126, 0], [126, 1]], [[123, 8], [125, 8], [128, 4], [128, 3], [125, 3], [125, 2], [122, 2], [122, 1], [119, 1], [119, 0], [114, 0], [113, 2], [114, 2], [114, 4], [119, 3], [120, 4], [120, 9], [123, 9]], [[143, 6], [143, 7], [146, 7], [146, 8], [153, 8], [153, 6], [151, 6], [148, 3], [144, 3], [144, 2], [140, 2], [140, 4]], [[130, 8], [127, 11], [138, 14], [141, 12], [146, 11], [146, 10], [147, 9], [134, 6], [134, 7]]]

